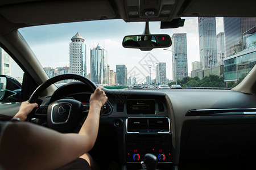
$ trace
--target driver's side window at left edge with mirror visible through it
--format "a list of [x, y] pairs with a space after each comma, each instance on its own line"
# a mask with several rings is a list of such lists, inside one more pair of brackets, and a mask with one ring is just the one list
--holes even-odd
[[23, 70], [0, 47], [0, 104], [21, 101]]

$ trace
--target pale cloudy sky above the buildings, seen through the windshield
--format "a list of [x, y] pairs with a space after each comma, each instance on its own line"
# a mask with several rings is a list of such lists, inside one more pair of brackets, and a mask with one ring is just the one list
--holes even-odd
[[[221, 31], [223, 29], [223, 25], [222, 25], [222, 18], [218, 18], [218, 28]], [[39, 61], [42, 63], [43, 67], [63, 67], [63, 66], [69, 66], [68, 62], [66, 62], [65, 56], [67, 55], [64, 54], [65, 51], [67, 51], [66, 49], [64, 49], [64, 42], [67, 41], [66, 39], [70, 40], [70, 37], [73, 36], [76, 32], [79, 32], [80, 35], [82, 35], [85, 38], [85, 44], [86, 44], [86, 56], [89, 56], [89, 48], [93, 48], [95, 47], [98, 42], [100, 42], [100, 44], [103, 44], [103, 46], [105, 46], [105, 49], [108, 49], [108, 63], [110, 65], [110, 70], [114, 70], [115, 71], [115, 65], [118, 64], [126, 64], [127, 70], [131, 70], [134, 67], [134, 64], [139, 62], [141, 60], [141, 58], [145, 55], [145, 52], [142, 52], [141, 50], [137, 50], [137, 49], [123, 49], [121, 42], [122, 42], [122, 38], [125, 35], [133, 35], [136, 32], [138, 33], [138, 30], [142, 30], [144, 29], [144, 23], [139, 23], [139, 24], [135, 24], [135, 23], [125, 23], [122, 20], [115, 20], [115, 21], [111, 21], [113, 23], [113, 25], [116, 25], [117, 28], [125, 28], [125, 31], [117, 31], [117, 30], [109, 30], [108, 27], [105, 28], [105, 23], [104, 21], [101, 22], [92, 22], [90, 24], [95, 24], [95, 30], [93, 30], [94, 32], [97, 32], [95, 34], [92, 33], [92, 30], [87, 29], [87, 27], [81, 26], [81, 27], [77, 27], [77, 28], [70, 28], [72, 29], [76, 29], [75, 31], [73, 31], [72, 33], [65, 33], [63, 35], [63, 28], [65, 26], [65, 24], [56, 24], [56, 25], [50, 25], [50, 27], [58, 27], [58, 32], [52, 32], [52, 34], [56, 34], [57, 36], [60, 37], [60, 39], [55, 39], [58, 40], [55, 43], [55, 48], [61, 48], [61, 52], [59, 53], [48, 53], [48, 50], [43, 50], [44, 47], [46, 47], [47, 49], [49, 48], [49, 51], [51, 50], [51, 48], [53, 48], [52, 43], [48, 43], [46, 44], [46, 40], [43, 40], [44, 37], [39, 37], [38, 39], [42, 39], [43, 40], [43, 44], [39, 44], [37, 46], [34, 45], [34, 39], [32, 39], [31, 36], [33, 36], [35, 34], [34, 31], [30, 31], [29, 33], [24, 31], [24, 30], [19, 30], [22, 35], [25, 37], [26, 41], [28, 41], [28, 44], [30, 44], [32, 50], [35, 52], [36, 56], [38, 56]], [[76, 23], [77, 25], [79, 23]], [[82, 23], [81, 23], [82, 24]], [[64, 25], [64, 26], [63, 26]], [[67, 24], [68, 25], [68, 24]], [[136, 29], [130, 29], [130, 26], [134, 27], [134, 25], [136, 25]], [[42, 27], [41, 29], [38, 29], [39, 32], [42, 31], [44, 32], [44, 25], [43, 26], [38, 26], [38, 27]], [[108, 36], [107, 34], [104, 34], [104, 32], [99, 31], [99, 27], [104, 27], [104, 31], [110, 31], [110, 32], [115, 32], [116, 36], [112, 36], [111, 38]], [[179, 32], [186, 32], [187, 33], [187, 39], [188, 39], [188, 63], [191, 63], [192, 61], [199, 61], [199, 40], [198, 40], [198, 29], [197, 29], [197, 18], [187, 18], [184, 24], [184, 27], [180, 27], [177, 29], [159, 29], [160, 27], [160, 23], [159, 22], [151, 22], [150, 23], [150, 31], [151, 32], [155, 32], [155, 33], [167, 33], [169, 35], [172, 35], [172, 33], [179, 33]], [[90, 27], [91, 28], [91, 27]], [[192, 29], [193, 28], [193, 29]], [[195, 28], [195, 29], [194, 29]], [[51, 28], [50, 28], [51, 30]], [[66, 31], [66, 29], [65, 29]], [[88, 32], [86, 32], [88, 31]], [[49, 32], [49, 31], [48, 31]], [[74, 33], [75, 32], [75, 33]], [[121, 33], [122, 32], [122, 33]], [[29, 36], [27, 37], [26, 35]], [[36, 32], [36, 35], [39, 35], [40, 33]], [[69, 37], [68, 37], [69, 35]], [[64, 40], [65, 39], [65, 40]], [[47, 42], [50, 40], [47, 40]], [[39, 42], [39, 41], [36, 41]], [[32, 43], [32, 44], [31, 44]], [[67, 42], [65, 42], [67, 43]], [[69, 43], [69, 42], [68, 42]], [[65, 45], [67, 46], [67, 45]], [[40, 49], [39, 49], [40, 48]], [[170, 48], [169, 48], [170, 49]], [[43, 50], [43, 52], [42, 52]], [[121, 50], [121, 51], [120, 51]], [[43, 54], [44, 53], [44, 54]], [[172, 61], [171, 61], [171, 54], [170, 52], [164, 51], [163, 49], [153, 49], [151, 51], [152, 55], [154, 55], [155, 57], [157, 57], [159, 59], [160, 62], [166, 62], [167, 64], [167, 78], [168, 79], [172, 79]], [[48, 63], [47, 57], [50, 56], [54, 56], [51, 57], [52, 62]], [[57, 59], [55, 56], [61, 56], [63, 59], [61, 59], [60, 61], [55, 61], [55, 59]], [[117, 59], [118, 58], [118, 59]], [[48, 59], [49, 60], [49, 59]], [[90, 71], [90, 65], [89, 65], [89, 58], [87, 57], [87, 71], [89, 73]], [[191, 71], [191, 64], [188, 65], [188, 70]], [[87, 73], [87, 74], [88, 74]], [[145, 73], [146, 74], [146, 73]], [[148, 74], [149, 75], [149, 74]], [[154, 75], [152, 75], [152, 79], [154, 79]]]

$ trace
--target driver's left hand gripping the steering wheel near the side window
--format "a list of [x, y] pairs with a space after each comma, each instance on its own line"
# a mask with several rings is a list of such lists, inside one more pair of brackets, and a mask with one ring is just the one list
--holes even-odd
[[24, 101], [19, 107], [19, 112], [15, 114], [14, 117], [19, 118], [21, 121], [25, 121], [27, 119], [27, 115], [36, 107], [38, 107], [38, 104]]

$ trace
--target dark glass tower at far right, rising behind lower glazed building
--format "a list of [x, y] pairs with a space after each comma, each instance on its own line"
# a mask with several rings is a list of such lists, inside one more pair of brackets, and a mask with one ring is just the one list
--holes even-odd
[[256, 25], [256, 17], [224, 17], [225, 57], [246, 49], [248, 32]]

